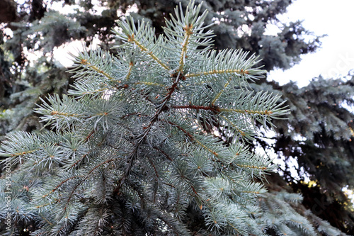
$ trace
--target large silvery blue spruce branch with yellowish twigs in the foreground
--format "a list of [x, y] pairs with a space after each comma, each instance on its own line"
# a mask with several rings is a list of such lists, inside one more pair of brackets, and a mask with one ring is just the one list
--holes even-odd
[[[15, 234], [31, 223], [33, 235], [265, 235], [254, 180], [274, 166], [247, 143], [288, 111], [250, 90], [256, 56], [210, 49], [200, 9], [176, 8], [158, 38], [119, 21], [118, 55], [82, 52], [69, 95], [36, 109], [52, 130], [7, 135], [1, 154], [21, 170]], [[222, 136], [205, 130], [215, 123]]]

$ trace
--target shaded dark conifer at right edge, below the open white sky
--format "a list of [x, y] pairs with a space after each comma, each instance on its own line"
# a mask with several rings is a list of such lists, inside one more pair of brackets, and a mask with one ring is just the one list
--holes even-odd
[[[292, 191], [303, 194], [304, 206], [350, 235], [354, 234], [353, 204], [342, 189], [354, 188], [353, 86], [353, 74], [315, 78], [303, 88], [295, 83], [252, 84], [256, 91], [281, 91], [291, 110], [286, 122], [275, 120], [278, 137], [273, 143], [258, 143], [285, 159], [281, 172]], [[297, 169], [288, 165], [290, 159], [296, 159]], [[290, 169], [297, 172], [296, 179]]]

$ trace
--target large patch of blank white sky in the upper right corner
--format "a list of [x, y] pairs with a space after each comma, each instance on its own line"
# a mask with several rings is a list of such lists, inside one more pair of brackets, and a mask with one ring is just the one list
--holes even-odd
[[287, 9], [284, 21], [304, 20], [302, 26], [315, 35], [327, 34], [316, 52], [302, 55], [302, 61], [286, 71], [270, 72], [280, 84], [296, 81], [305, 86], [321, 74], [332, 78], [354, 69], [354, 1], [297, 0]]

